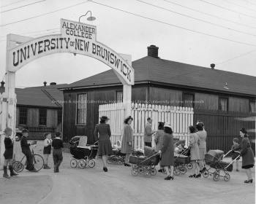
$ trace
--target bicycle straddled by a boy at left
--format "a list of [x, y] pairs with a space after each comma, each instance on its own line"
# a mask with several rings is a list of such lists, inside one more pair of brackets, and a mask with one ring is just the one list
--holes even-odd
[[[37, 170], [41, 170], [42, 167], [44, 166], [45, 164], [45, 160], [43, 159], [43, 157], [39, 154], [34, 154], [34, 148], [36, 148], [37, 145], [35, 145], [32, 149], [31, 149], [31, 154], [32, 154], [32, 157], [33, 157], [33, 165], [34, 165], [34, 168], [36, 168]], [[21, 171], [23, 171], [24, 169], [24, 165], [23, 165], [23, 160], [24, 158], [26, 157], [26, 155], [24, 155], [22, 157], [22, 159], [19, 161], [15, 161], [12, 166], [13, 166], [13, 170], [15, 170], [15, 172], [17, 173], [20, 173]], [[25, 162], [25, 165], [27, 164], [27, 160]]]

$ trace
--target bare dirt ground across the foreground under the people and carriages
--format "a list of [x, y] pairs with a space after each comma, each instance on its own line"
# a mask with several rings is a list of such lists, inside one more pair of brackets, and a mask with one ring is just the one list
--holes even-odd
[[[42, 143], [37, 141], [35, 149], [41, 155]], [[22, 156], [17, 142], [16, 159]], [[84, 169], [71, 168], [69, 162], [65, 149], [60, 173], [53, 173], [53, 168], [39, 173], [24, 169], [15, 178], [1, 177], [0, 203], [255, 203], [255, 168], [252, 169], [254, 183], [244, 184], [246, 173], [234, 171], [236, 167], [230, 172], [230, 181], [223, 178], [214, 181], [212, 176], [189, 178], [191, 170], [175, 176], [173, 181], [165, 181], [166, 175], [158, 172], [151, 178], [132, 176], [132, 168], [124, 165], [108, 165], [108, 172], [104, 172], [100, 159], [94, 168]], [[48, 165], [53, 167], [51, 155]]]

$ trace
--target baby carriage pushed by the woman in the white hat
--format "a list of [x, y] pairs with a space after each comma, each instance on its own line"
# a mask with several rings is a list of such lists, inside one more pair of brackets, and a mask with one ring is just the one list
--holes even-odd
[[155, 166], [158, 165], [160, 160], [159, 152], [150, 146], [145, 146], [144, 154], [143, 156], [129, 156], [129, 162], [132, 164], [132, 176], [138, 176], [140, 173], [148, 178], [157, 174]]

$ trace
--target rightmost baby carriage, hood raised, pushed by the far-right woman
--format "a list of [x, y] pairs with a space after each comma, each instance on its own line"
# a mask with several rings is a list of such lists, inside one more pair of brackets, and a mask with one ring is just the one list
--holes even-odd
[[[230, 150], [229, 152], [227, 152], [227, 154], [229, 154], [232, 150]], [[240, 152], [238, 152], [240, 156]], [[205, 161], [206, 161], [206, 165], [209, 165], [210, 168], [206, 169], [203, 172], [203, 177], [207, 178], [208, 176], [213, 176], [214, 181], [219, 181], [219, 177], [223, 177], [224, 181], [229, 181], [230, 180], [230, 174], [227, 172], [231, 172], [233, 170], [233, 162], [238, 158], [236, 157], [235, 160], [232, 160], [231, 162], [224, 162], [222, 161], [222, 159], [224, 157], [227, 156], [227, 154], [224, 154], [224, 152], [222, 150], [209, 150], [206, 153], [206, 157], [205, 157]], [[214, 168], [215, 171], [214, 172], [210, 172], [209, 170], [211, 168]], [[220, 170], [223, 170], [225, 173], [225, 176], [221, 176]]]

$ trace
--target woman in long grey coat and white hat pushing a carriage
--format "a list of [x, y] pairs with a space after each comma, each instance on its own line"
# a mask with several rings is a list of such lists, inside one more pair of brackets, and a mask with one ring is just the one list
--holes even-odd
[[[170, 127], [170, 124], [165, 123], [165, 135], [164, 141], [159, 151], [162, 153], [161, 156], [161, 165], [164, 166], [165, 171], [167, 173], [167, 177], [165, 180], [173, 180], [173, 165], [174, 165], [174, 144], [173, 144], [173, 130]], [[170, 167], [170, 170], [169, 170]]]

